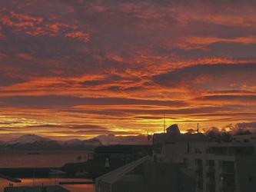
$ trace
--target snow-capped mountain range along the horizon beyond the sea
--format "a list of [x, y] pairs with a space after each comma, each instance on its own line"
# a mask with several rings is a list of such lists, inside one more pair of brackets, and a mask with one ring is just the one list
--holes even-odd
[[79, 139], [68, 141], [55, 141], [49, 138], [40, 137], [36, 134], [25, 134], [10, 141], [0, 141], [0, 150], [17, 151], [52, 151], [52, 150], [75, 150], [91, 151], [95, 147], [103, 145], [97, 138], [81, 141]]

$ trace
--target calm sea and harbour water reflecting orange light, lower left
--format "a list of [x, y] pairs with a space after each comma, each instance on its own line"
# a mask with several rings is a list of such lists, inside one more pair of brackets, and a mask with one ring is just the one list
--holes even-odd
[[[0, 167], [62, 167], [67, 163], [78, 162], [78, 156], [85, 161], [91, 151], [38, 151], [39, 154], [28, 154], [32, 151], [0, 151]], [[21, 183], [13, 183], [15, 186], [32, 186], [33, 178], [23, 178]], [[35, 178], [35, 185], [55, 185], [62, 181], [88, 181], [83, 178]], [[0, 192], [12, 183], [0, 178]], [[71, 192], [94, 192], [95, 184], [63, 185], [62, 187]]]

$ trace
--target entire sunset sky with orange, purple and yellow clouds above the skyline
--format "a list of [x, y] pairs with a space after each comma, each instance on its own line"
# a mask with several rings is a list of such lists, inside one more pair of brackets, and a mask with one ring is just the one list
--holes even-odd
[[135, 142], [164, 114], [256, 130], [254, 0], [1, 0], [0, 17], [0, 141]]

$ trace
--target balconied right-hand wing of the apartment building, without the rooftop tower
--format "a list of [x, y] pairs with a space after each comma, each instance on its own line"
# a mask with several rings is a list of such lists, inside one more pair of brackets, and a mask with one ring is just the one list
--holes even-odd
[[256, 191], [255, 135], [234, 136], [230, 143], [208, 142], [184, 154], [184, 164], [196, 171], [196, 191]]

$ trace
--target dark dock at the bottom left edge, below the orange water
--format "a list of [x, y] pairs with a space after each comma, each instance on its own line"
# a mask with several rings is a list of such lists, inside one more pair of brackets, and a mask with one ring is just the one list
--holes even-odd
[[58, 186], [58, 185], [49, 185], [49, 186], [23, 186], [23, 187], [5, 187], [4, 192], [70, 192], [65, 188]]

